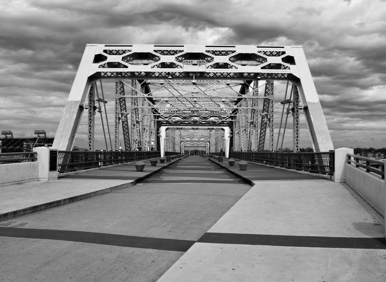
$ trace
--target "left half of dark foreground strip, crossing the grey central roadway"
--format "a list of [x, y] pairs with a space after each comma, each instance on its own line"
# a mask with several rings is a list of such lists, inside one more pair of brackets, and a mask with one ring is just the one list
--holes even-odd
[[12, 227], [0, 227], [0, 236], [30, 239], [63, 240], [121, 247], [168, 250], [176, 252], [186, 252], [195, 243], [195, 241], [190, 240], [138, 237], [130, 235], [117, 235], [84, 231], [29, 229]]

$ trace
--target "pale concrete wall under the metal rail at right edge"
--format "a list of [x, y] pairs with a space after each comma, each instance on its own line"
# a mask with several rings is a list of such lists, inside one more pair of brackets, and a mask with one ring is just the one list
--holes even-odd
[[344, 164], [344, 170], [346, 184], [384, 217], [386, 204], [385, 181], [351, 164]]

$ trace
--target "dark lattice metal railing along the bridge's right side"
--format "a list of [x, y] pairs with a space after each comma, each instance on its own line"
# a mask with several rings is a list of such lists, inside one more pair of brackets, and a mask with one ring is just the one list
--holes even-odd
[[273, 153], [273, 152], [230, 152], [230, 158], [247, 160], [296, 169], [317, 174], [334, 174], [334, 152]]

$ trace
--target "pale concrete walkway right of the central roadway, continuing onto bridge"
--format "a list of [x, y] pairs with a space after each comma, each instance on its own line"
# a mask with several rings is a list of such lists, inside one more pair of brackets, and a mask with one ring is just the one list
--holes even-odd
[[383, 218], [346, 184], [230, 169], [255, 185], [159, 282], [386, 280]]

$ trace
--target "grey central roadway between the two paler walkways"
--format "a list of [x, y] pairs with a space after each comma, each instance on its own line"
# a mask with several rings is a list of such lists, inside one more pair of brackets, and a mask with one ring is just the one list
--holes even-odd
[[0, 222], [2, 281], [159, 279], [251, 189], [202, 157], [170, 167], [139, 185]]

